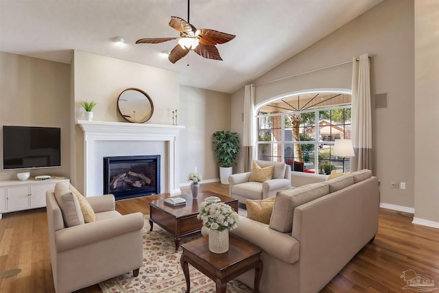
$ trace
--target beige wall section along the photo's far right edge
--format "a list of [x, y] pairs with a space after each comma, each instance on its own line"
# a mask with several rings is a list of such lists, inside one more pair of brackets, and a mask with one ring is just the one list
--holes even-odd
[[415, 1], [415, 221], [439, 228], [439, 1]]

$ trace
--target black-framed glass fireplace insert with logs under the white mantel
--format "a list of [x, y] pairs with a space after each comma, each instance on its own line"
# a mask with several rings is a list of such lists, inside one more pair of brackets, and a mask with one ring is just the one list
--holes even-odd
[[159, 193], [160, 155], [104, 157], [104, 194], [121, 200]]

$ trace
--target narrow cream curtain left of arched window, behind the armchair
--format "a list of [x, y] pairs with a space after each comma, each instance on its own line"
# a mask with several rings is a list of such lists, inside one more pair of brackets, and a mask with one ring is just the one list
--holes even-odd
[[254, 84], [244, 88], [244, 172], [250, 172], [254, 158]]

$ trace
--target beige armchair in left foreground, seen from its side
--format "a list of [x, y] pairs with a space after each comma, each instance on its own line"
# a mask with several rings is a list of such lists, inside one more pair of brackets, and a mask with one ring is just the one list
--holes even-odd
[[114, 196], [95, 196], [86, 198], [95, 220], [85, 223], [78, 195], [63, 184], [46, 193], [55, 291], [73, 292], [131, 270], [137, 277], [143, 265], [142, 213], [121, 215]]

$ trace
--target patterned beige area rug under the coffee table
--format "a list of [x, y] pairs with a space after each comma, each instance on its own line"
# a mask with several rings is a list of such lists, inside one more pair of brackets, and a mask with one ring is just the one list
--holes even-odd
[[[164, 293], [186, 292], [185, 275], [180, 266], [181, 247], [175, 251], [174, 237], [171, 237], [163, 228], [154, 224], [150, 231], [149, 215], [144, 215], [143, 226], [143, 268], [139, 276], [133, 277], [132, 272], [122, 274], [99, 283], [104, 293]], [[181, 243], [190, 242], [201, 233], [189, 237], [183, 237]], [[215, 292], [215, 283], [204, 276], [201, 272], [189, 265], [191, 279], [191, 292], [205, 293]], [[228, 293], [253, 292], [247, 285], [238, 280], [227, 284]]]

